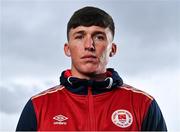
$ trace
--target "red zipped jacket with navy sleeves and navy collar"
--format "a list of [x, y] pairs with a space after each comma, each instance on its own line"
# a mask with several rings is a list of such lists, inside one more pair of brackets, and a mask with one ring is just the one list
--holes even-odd
[[66, 70], [61, 84], [33, 96], [16, 131], [166, 131], [155, 99], [123, 84], [107, 69], [104, 81], [78, 79]]

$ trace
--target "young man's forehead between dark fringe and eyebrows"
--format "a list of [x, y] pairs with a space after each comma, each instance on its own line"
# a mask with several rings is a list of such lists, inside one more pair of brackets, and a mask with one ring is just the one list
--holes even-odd
[[74, 35], [76, 33], [79, 32], [85, 32], [85, 33], [94, 33], [94, 32], [102, 32], [103, 34], [111, 34], [111, 30], [107, 27], [107, 28], [103, 28], [103, 27], [99, 27], [99, 26], [90, 26], [90, 27], [86, 27], [86, 26], [78, 26], [76, 28], [72, 28], [69, 32], [69, 35]]

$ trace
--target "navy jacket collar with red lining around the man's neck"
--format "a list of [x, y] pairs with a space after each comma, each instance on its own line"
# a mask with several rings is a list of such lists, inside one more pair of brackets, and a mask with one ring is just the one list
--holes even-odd
[[71, 70], [66, 70], [60, 76], [60, 84], [70, 92], [80, 95], [87, 95], [88, 87], [91, 87], [92, 94], [100, 94], [123, 85], [123, 80], [114, 69], [108, 68], [106, 75], [107, 78], [104, 81], [94, 81], [73, 77]]

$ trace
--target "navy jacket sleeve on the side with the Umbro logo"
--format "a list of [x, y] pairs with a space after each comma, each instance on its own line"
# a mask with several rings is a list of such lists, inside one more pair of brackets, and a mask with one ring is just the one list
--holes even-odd
[[36, 131], [37, 119], [34, 111], [32, 100], [30, 99], [25, 105], [19, 122], [16, 127], [16, 131]]

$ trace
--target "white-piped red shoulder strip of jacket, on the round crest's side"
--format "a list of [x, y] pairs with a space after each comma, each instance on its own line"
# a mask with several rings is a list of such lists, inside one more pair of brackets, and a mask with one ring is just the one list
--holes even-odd
[[147, 98], [147, 99], [149, 99], [151, 101], [154, 99], [150, 94], [148, 94], [148, 93], [146, 93], [146, 92], [144, 92], [142, 90], [139, 90], [139, 89], [137, 89], [137, 88], [135, 88], [133, 86], [130, 86], [128, 84], [123, 84], [119, 88], [121, 90], [123, 90], [124, 92], [133, 95], [135, 98], [136, 97], [137, 98]]

